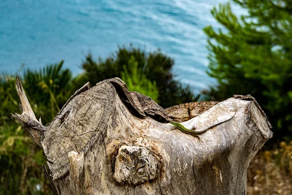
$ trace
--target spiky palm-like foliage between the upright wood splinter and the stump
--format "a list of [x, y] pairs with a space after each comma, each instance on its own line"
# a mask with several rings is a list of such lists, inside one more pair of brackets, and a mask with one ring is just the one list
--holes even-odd
[[69, 69], [62, 69], [63, 60], [32, 71], [27, 69], [23, 74], [23, 87], [37, 116], [44, 123], [51, 122], [77, 90]]

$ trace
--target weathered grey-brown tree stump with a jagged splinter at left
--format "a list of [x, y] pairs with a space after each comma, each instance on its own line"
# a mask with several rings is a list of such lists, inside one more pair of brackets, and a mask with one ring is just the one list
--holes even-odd
[[[252, 157], [272, 137], [251, 96], [163, 109], [119, 78], [78, 90], [55, 119], [37, 121], [19, 79], [14, 117], [43, 148], [58, 195], [242, 195]], [[201, 141], [175, 129], [178, 121]]]

